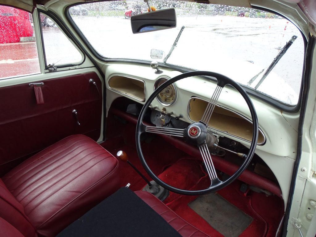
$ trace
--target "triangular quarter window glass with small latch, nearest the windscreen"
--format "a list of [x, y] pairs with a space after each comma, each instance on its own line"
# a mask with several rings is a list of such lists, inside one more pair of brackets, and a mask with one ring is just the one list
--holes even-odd
[[82, 54], [48, 16], [40, 13], [46, 65], [79, 64]]

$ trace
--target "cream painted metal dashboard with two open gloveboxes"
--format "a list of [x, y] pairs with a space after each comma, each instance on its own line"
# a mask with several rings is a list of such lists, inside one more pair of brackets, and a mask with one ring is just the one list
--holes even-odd
[[[153, 93], [155, 82], [159, 78], [173, 78], [181, 74], [179, 71], [166, 69], [162, 69], [162, 74], [155, 74], [149, 65], [125, 63], [108, 63], [103, 66], [102, 70], [106, 80], [107, 108], [110, 108], [112, 102], [121, 96], [144, 104], [144, 101]], [[119, 83], [113, 83], [113, 78], [119, 78]], [[123, 83], [124, 78], [131, 79], [128, 79], [127, 90]], [[122, 83], [121, 88], [120, 83]], [[161, 111], [162, 107], [165, 107], [166, 113], [173, 112], [172, 117], [182, 114], [181, 120], [192, 123], [201, 117], [207, 103], [205, 101], [210, 100], [216, 83], [201, 77], [190, 77], [176, 82], [175, 87], [177, 98], [174, 103], [166, 106], [155, 98], [151, 105], [157, 106], [157, 111]], [[131, 92], [132, 94], [130, 94]], [[284, 193], [288, 193], [296, 157], [297, 129], [295, 128], [297, 128], [298, 115], [281, 112], [253, 97], [252, 102], [257, 111], [260, 128], [256, 153], [276, 175], [283, 192], [283, 199], [286, 201], [287, 197], [284, 196]], [[244, 99], [234, 88], [226, 86], [223, 88], [217, 104], [219, 106], [210, 119], [210, 131], [215, 135], [231, 138], [249, 147], [249, 135], [252, 134], [252, 130], [249, 130], [251, 117]], [[280, 166], [284, 172], [280, 173]]]

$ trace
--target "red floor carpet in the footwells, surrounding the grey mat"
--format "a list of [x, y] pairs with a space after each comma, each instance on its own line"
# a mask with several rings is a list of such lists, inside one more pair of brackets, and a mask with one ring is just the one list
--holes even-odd
[[[117, 123], [118, 121], [112, 123]], [[149, 180], [151, 178], [143, 169], [135, 148], [135, 125], [120, 124], [120, 131], [116, 131], [116, 137], [111, 134], [108, 141], [101, 145], [116, 155], [118, 150], [124, 150], [129, 161], [133, 163]], [[205, 175], [201, 161], [186, 155], [183, 151], [174, 148], [160, 137], [149, 137], [143, 141], [143, 154], [153, 172], [159, 175], [169, 185], [177, 185], [178, 188], [199, 190], [210, 185], [209, 178]], [[131, 190], [141, 190], [146, 182], [126, 163], [120, 161], [120, 173], [122, 174], [121, 186], [130, 183]], [[240, 235], [242, 237], [275, 236], [276, 230], [283, 216], [283, 201], [276, 196], [266, 196], [264, 193], [240, 191], [240, 181], [235, 181], [218, 193], [231, 204], [238, 207], [253, 218], [252, 223]], [[167, 206], [179, 216], [210, 236], [223, 236], [212, 228], [201, 216], [193, 211], [188, 203], [197, 196], [184, 196], [170, 192], [164, 201]]]

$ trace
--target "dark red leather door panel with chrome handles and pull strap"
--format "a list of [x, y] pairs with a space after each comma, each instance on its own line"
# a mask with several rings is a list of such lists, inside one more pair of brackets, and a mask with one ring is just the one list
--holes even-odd
[[69, 135], [85, 134], [94, 140], [100, 136], [102, 87], [96, 73], [41, 82], [44, 104], [37, 104], [29, 83], [0, 88], [0, 175], [23, 157]]

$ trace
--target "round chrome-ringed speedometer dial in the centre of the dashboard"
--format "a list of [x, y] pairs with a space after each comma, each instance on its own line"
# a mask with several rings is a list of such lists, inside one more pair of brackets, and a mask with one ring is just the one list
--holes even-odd
[[[155, 82], [154, 89], [158, 88], [161, 86], [164, 82], [169, 80], [169, 78], [166, 77], [161, 77]], [[164, 88], [158, 95], [157, 95], [157, 100], [160, 101], [162, 105], [168, 106], [172, 105], [174, 102], [177, 100], [177, 88], [171, 84]]]

